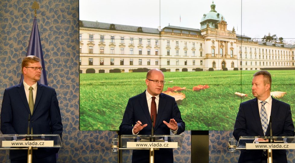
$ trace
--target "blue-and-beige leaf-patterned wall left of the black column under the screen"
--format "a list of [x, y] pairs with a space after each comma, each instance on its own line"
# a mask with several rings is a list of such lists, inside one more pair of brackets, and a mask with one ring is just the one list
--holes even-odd
[[[63, 123], [63, 147], [58, 162], [117, 162], [110, 152], [115, 131], [79, 131], [79, 9], [77, 0], [37, 0], [37, 23], [48, 85], [56, 89]], [[34, 11], [32, 0], [0, 1], [0, 103], [5, 88], [20, 82], [21, 61], [26, 56]], [[119, 125], [119, 124], [118, 124]], [[190, 162], [190, 132], [175, 162]], [[0, 150], [0, 162], [9, 162]]]

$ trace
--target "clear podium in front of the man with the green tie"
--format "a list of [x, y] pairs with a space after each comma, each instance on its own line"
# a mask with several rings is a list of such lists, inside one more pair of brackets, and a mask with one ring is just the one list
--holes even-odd
[[62, 147], [58, 134], [0, 134], [0, 150], [27, 150], [28, 163], [32, 163], [33, 149], [44, 147]]

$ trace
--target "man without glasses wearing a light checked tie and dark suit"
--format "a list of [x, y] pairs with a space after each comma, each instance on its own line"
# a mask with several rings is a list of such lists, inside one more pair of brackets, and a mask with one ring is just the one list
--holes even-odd
[[[233, 136], [237, 141], [240, 136], [270, 136], [270, 116], [273, 136], [294, 136], [290, 105], [270, 95], [271, 74], [261, 70], [253, 76], [252, 94], [255, 98], [240, 104]], [[266, 115], [265, 119], [261, 118], [263, 115]], [[285, 150], [272, 150], [272, 155], [274, 163], [287, 163]], [[267, 155], [263, 150], [241, 150], [238, 162], [267, 162]]]

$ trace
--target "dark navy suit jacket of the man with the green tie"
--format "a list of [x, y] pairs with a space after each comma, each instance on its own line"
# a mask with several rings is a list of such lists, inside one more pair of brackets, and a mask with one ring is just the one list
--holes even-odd
[[[31, 115], [24, 84], [5, 89], [1, 108], [1, 132], [3, 134], [27, 134], [28, 117], [33, 134], [59, 134], [62, 138], [62, 120], [56, 91], [37, 83], [33, 115]], [[59, 148], [39, 148], [33, 151], [34, 158], [56, 157]], [[11, 150], [11, 160], [27, 158], [26, 150]], [[33, 160], [36, 161], [36, 160]]]

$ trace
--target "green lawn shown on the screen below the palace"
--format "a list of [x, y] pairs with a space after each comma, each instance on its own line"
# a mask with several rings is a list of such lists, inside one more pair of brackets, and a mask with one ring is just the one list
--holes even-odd
[[[167, 87], [183, 90], [186, 98], [179, 103], [186, 130], [233, 130], [239, 104], [252, 99], [251, 83], [256, 71], [165, 72]], [[291, 105], [295, 120], [295, 70], [271, 70], [271, 91], [287, 92], [281, 101]], [[146, 73], [80, 74], [80, 130], [119, 130], [128, 99], [146, 89]], [[235, 92], [248, 94], [239, 97]]]

